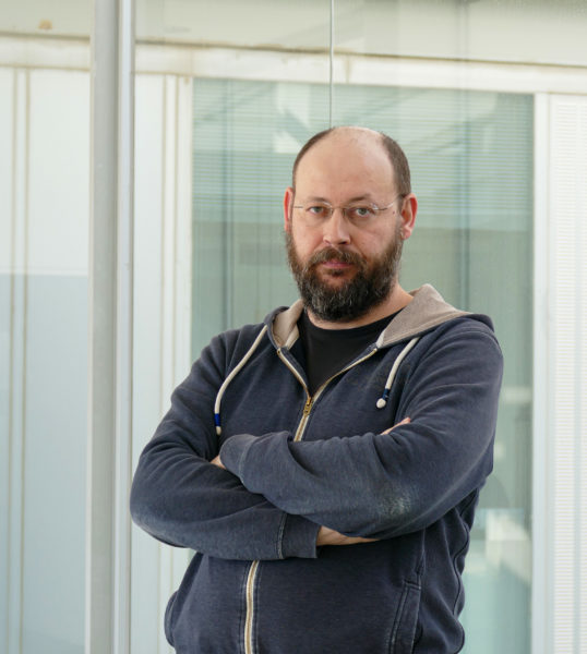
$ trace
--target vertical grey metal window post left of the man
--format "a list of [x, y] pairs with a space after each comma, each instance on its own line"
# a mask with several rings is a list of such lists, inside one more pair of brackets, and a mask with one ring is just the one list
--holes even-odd
[[134, 1], [92, 33], [85, 652], [130, 646]]

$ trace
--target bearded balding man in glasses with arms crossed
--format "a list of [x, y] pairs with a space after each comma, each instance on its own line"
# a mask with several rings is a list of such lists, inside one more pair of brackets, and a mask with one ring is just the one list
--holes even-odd
[[301, 300], [212, 341], [134, 477], [135, 522], [196, 550], [166, 613], [177, 652], [462, 649], [502, 359], [489, 318], [399, 286], [416, 211], [387, 136], [336, 128], [300, 152]]

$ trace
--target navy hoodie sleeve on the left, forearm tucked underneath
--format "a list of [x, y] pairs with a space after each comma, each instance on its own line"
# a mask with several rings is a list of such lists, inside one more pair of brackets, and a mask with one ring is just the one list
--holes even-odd
[[316, 524], [276, 508], [209, 463], [218, 453], [213, 405], [226, 351], [223, 338], [214, 339], [173, 391], [171, 409], [139, 460], [132, 518], [164, 543], [220, 558], [313, 558]]

